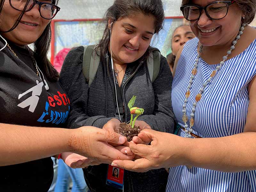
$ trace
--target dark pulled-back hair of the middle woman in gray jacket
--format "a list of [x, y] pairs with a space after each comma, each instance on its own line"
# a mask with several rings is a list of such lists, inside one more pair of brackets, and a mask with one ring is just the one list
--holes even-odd
[[[113, 23], [119, 18], [127, 17], [129, 15], [136, 15], [143, 13], [144, 15], [150, 15], [155, 18], [155, 33], [158, 34], [163, 28], [164, 22], [164, 9], [162, 0], [116, 0], [114, 4], [108, 8], [105, 13], [103, 21], [106, 22], [106, 28], [104, 30], [102, 39], [99, 45], [96, 47], [96, 52], [101, 57], [103, 64], [106, 64], [105, 55], [108, 52], [108, 45], [110, 42], [110, 32], [108, 28], [108, 20]], [[143, 21], [141, 21], [143, 22]], [[154, 50], [152, 47], [148, 47], [148, 50], [140, 58], [140, 60], [145, 59], [150, 50]]]

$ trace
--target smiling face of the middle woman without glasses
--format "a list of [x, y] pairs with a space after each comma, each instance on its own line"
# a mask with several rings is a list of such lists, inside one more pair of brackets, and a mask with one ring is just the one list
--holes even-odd
[[[132, 63], [147, 51], [155, 32], [154, 17], [142, 13], [119, 18], [112, 25], [111, 48], [117, 64]], [[108, 21], [111, 28], [111, 21]], [[110, 52], [110, 45], [109, 45]]]

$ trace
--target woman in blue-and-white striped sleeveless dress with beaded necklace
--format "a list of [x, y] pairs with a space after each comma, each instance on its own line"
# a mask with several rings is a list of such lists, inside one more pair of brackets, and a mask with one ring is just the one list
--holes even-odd
[[[166, 191], [256, 191], [255, 0], [183, 0], [197, 38], [176, 60], [172, 107], [179, 136], [143, 130], [129, 143], [142, 158], [113, 164], [144, 172], [172, 167]], [[134, 139], [133, 139], [134, 140]]]

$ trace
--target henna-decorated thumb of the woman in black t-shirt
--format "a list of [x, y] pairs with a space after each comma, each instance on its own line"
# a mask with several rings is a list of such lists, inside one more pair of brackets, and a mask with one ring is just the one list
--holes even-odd
[[127, 138], [116, 132], [102, 130], [102, 132], [99, 133], [98, 140], [122, 145], [127, 141]]

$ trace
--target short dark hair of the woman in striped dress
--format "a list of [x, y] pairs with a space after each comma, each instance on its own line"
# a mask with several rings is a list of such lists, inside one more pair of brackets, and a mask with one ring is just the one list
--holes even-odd
[[[255, 17], [256, 13], [256, 0], [236, 0], [235, 1], [238, 6], [241, 8], [244, 13], [244, 18], [242, 18], [242, 22], [246, 24], [250, 24]], [[182, 0], [183, 5], [191, 4], [191, 0]]]

